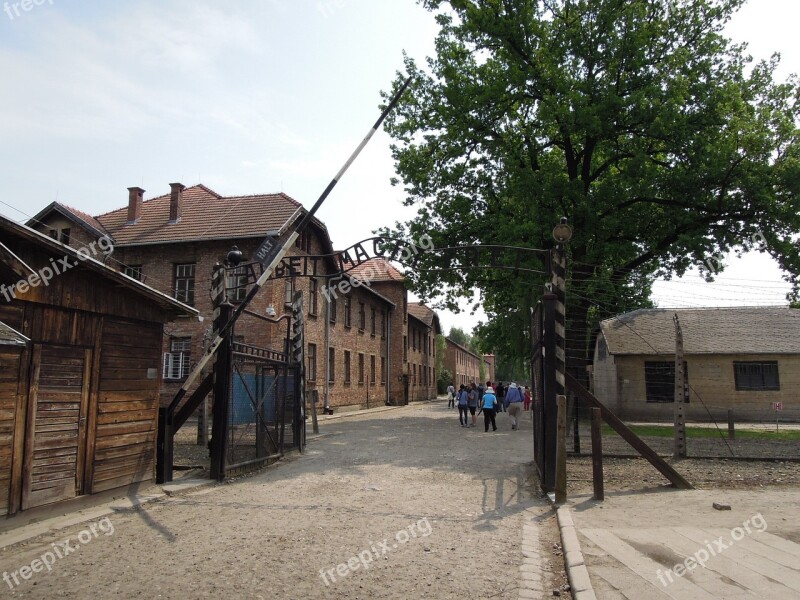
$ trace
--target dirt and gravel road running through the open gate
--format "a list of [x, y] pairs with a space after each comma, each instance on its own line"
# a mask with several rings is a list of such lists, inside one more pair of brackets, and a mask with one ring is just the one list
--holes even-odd
[[461, 428], [445, 403], [326, 421], [303, 455], [260, 473], [4, 548], [0, 572], [40, 572], [0, 585], [24, 598], [516, 599], [528, 523], [541, 597], [568, 598], [530, 423], [498, 421]]

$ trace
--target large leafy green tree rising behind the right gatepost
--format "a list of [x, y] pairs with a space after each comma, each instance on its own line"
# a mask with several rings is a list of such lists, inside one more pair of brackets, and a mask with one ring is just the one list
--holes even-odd
[[[720, 252], [768, 252], [796, 292], [798, 85], [722, 35], [742, 2], [422, 1], [436, 56], [406, 57], [414, 82], [386, 124], [418, 214], [385, 233], [546, 248], [566, 216], [573, 366], [598, 315], [646, 305], [656, 277]], [[480, 337], [526, 354], [544, 275], [457, 265], [420, 255], [415, 291], [454, 308], [479, 289]]]

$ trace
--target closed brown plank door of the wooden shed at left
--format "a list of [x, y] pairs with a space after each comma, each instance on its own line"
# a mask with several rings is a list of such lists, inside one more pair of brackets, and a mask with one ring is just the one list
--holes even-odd
[[83, 493], [91, 358], [86, 348], [34, 347], [23, 510]]

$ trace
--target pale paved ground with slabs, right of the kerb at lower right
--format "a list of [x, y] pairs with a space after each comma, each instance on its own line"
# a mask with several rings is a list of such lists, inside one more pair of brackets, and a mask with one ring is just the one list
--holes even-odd
[[570, 504], [598, 598], [800, 598], [794, 489], [662, 489]]

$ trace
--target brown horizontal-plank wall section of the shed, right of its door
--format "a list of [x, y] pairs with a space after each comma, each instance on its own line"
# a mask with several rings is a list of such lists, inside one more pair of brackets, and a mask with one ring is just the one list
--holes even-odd
[[[89, 457], [94, 453], [87, 473], [92, 493], [152, 478], [161, 336], [161, 325], [105, 319], [95, 435], [87, 449]], [[155, 369], [154, 378], [148, 379], [148, 369]]]

